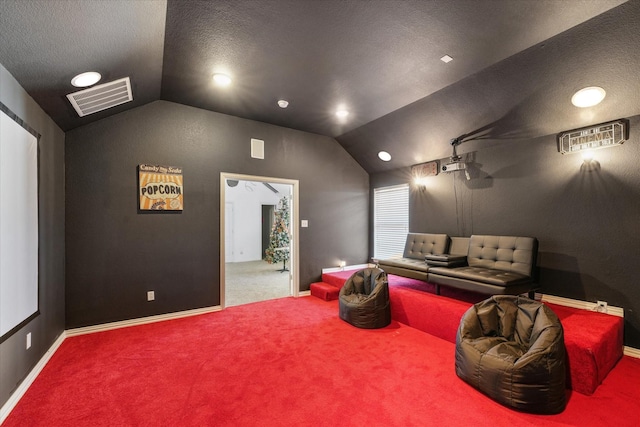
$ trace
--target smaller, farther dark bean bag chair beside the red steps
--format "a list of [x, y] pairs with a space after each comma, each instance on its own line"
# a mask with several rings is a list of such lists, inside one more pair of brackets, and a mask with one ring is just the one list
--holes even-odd
[[363, 329], [384, 328], [391, 323], [387, 273], [366, 268], [354, 273], [340, 289], [340, 318]]

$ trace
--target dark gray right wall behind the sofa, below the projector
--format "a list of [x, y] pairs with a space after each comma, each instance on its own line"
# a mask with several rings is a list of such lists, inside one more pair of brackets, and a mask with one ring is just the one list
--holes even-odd
[[[625, 345], [640, 348], [640, 116], [630, 125], [622, 146], [594, 152], [591, 172], [580, 154], [558, 153], [555, 135], [464, 143], [472, 179], [412, 186], [410, 229], [537, 237], [542, 292], [623, 307]], [[409, 180], [409, 169], [375, 174], [371, 188]]]

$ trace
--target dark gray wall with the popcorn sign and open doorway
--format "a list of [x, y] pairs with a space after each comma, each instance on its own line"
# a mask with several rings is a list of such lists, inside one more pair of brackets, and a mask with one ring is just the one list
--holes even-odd
[[[68, 132], [65, 159], [68, 328], [220, 303], [220, 172], [299, 180], [301, 290], [367, 261], [369, 177], [332, 138], [157, 101]], [[182, 213], [137, 212], [141, 163], [184, 168]]]

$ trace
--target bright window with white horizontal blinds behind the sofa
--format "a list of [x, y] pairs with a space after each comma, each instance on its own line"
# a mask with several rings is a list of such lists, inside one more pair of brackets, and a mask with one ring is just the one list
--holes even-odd
[[409, 232], [409, 184], [373, 190], [373, 257], [402, 255]]

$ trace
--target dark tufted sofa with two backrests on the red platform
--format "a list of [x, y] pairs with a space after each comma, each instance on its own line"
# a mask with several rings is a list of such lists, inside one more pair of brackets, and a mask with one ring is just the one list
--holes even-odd
[[539, 287], [535, 280], [537, 255], [535, 237], [449, 238], [446, 234], [409, 233], [403, 256], [378, 260], [378, 266], [388, 274], [435, 284], [438, 293], [440, 286], [448, 286], [490, 295], [528, 293], [532, 297]]

